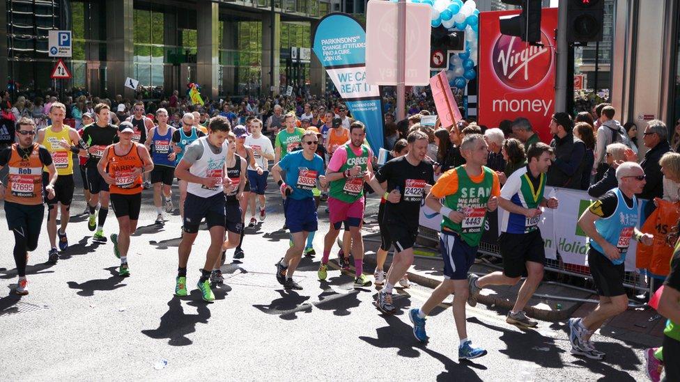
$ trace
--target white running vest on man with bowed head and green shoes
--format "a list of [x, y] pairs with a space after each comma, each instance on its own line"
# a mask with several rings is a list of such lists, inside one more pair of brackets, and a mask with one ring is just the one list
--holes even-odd
[[187, 192], [200, 196], [201, 198], [210, 198], [210, 196], [222, 193], [222, 180], [224, 179], [224, 161], [229, 154], [229, 142], [226, 140], [222, 143], [222, 152], [214, 154], [210, 149], [210, 143], [207, 136], [202, 136], [196, 139], [196, 144], [203, 145], [203, 155], [201, 159], [194, 162], [189, 168], [189, 172], [197, 177], [215, 177], [219, 182], [215, 187], [208, 188], [203, 184], [189, 182], [187, 185]]

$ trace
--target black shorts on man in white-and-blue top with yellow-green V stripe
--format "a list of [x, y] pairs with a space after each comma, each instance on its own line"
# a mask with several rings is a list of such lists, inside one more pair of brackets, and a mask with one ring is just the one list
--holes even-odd
[[516, 278], [527, 276], [527, 262], [546, 263], [546, 248], [541, 230], [525, 234], [502, 232], [498, 237], [500, 255], [503, 257], [503, 274]]

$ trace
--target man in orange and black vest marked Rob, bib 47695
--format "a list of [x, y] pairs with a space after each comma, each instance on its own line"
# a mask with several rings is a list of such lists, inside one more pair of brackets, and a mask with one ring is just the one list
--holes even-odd
[[42, 168], [47, 166], [49, 173], [49, 183], [44, 187], [48, 198], [54, 198], [54, 184], [59, 175], [49, 151], [33, 142], [36, 122], [31, 118], [21, 118], [15, 134], [18, 143], [0, 151], [0, 170], [9, 167], [7, 186], [0, 182], [0, 199], [5, 200], [7, 225], [14, 234], [14, 261], [19, 276], [14, 292], [23, 295], [29, 294], [26, 287], [28, 252], [38, 248], [42, 216], [45, 215]]

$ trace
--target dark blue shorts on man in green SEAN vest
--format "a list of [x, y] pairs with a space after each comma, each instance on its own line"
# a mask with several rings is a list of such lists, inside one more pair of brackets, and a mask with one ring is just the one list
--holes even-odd
[[444, 277], [449, 280], [468, 278], [468, 271], [477, 255], [477, 246], [468, 246], [454, 232], [442, 231], [439, 234], [439, 247], [444, 259]]

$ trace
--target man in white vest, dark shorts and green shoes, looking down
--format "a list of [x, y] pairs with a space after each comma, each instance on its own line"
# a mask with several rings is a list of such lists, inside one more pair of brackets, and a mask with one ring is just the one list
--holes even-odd
[[175, 286], [177, 296], [187, 295], [187, 262], [199, 232], [199, 225], [205, 218], [210, 231], [210, 247], [197, 286], [203, 301], [215, 300], [209, 279], [215, 262], [219, 260], [220, 248], [224, 241], [226, 220], [223, 195], [226, 173], [224, 163], [229, 154], [229, 144], [225, 140], [230, 130], [226, 118], [212, 118], [208, 125], [208, 136], [197, 139], [187, 147], [175, 169], [177, 177], [188, 183], [183, 219], [184, 234], [178, 248], [179, 266]]

